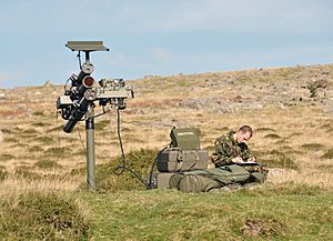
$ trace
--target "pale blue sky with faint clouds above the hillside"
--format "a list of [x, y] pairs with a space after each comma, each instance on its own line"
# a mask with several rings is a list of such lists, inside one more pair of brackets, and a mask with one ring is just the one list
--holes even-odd
[[92, 76], [140, 79], [333, 63], [330, 0], [0, 0], [0, 89], [63, 84], [69, 40], [102, 40]]

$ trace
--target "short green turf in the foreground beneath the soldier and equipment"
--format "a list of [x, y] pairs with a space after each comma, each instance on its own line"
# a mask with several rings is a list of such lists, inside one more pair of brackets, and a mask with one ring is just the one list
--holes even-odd
[[85, 192], [80, 197], [93, 210], [93, 240], [329, 240], [332, 234], [332, 193], [303, 185], [199, 194]]

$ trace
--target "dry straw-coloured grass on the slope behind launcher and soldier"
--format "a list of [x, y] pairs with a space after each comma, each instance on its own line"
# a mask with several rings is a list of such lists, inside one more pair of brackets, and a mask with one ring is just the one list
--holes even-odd
[[[327, 66], [326, 69], [331, 70], [332, 67]], [[263, 71], [251, 70], [155, 77], [133, 82], [137, 97], [128, 101], [128, 109], [121, 116], [125, 151], [141, 148], [161, 149], [169, 143], [169, 132], [173, 125], [200, 129], [202, 148], [212, 150], [215, 138], [225, 133], [228, 129], [250, 124], [254, 128], [254, 137], [249, 143], [252, 150], [263, 153], [263, 158], [264, 153], [272, 151], [283, 152], [297, 165], [297, 170], [272, 171], [269, 181], [294, 181], [333, 188], [332, 159], [322, 158], [333, 149], [333, 121], [323, 112], [320, 103], [313, 107], [302, 102], [291, 107], [271, 103], [261, 109], [241, 109], [226, 113], [179, 107], [182, 100], [201, 97], [260, 101], [266, 98], [265, 88], [271, 83], [289, 83], [292, 80], [301, 82], [297, 74], [303, 74], [291, 68], [268, 71], [269, 76]], [[313, 67], [311, 71], [317, 73], [322, 69]], [[231, 83], [225, 86], [225, 82]], [[224, 86], [220, 88], [219, 84]], [[239, 92], [244, 84], [255, 88], [240, 97]], [[23, 94], [18, 96], [18, 91]], [[306, 89], [300, 88], [295, 91], [309, 94]], [[62, 93], [61, 87], [19, 88], [7, 90], [6, 93], [7, 99], [1, 100], [0, 111], [0, 129], [4, 135], [4, 141], [0, 143], [1, 167], [10, 174], [28, 167], [29, 171], [37, 174], [52, 175], [70, 173], [73, 169], [84, 167], [84, 125], [78, 124], [81, 130], [80, 139], [77, 130], [71, 134], [63, 133], [59, 129], [63, 121], [60, 117], [58, 120], [56, 118], [54, 101]], [[38, 101], [32, 99], [33, 97], [38, 97]], [[97, 123], [100, 123], [95, 133], [97, 162], [103, 163], [120, 154], [115, 112], [97, 119]], [[42, 160], [54, 162], [57, 165], [53, 169], [40, 168], [38, 163]], [[31, 180], [24, 183], [21, 179], [16, 180], [16, 175], [10, 177], [1, 183], [2, 191], [31, 185]], [[63, 189], [74, 189], [80, 182], [82, 178], [60, 180], [57, 189], [61, 188], [60, 185], [63, 185]], [[53, 181], [43, 183], [46, 189], [53, 187]]]

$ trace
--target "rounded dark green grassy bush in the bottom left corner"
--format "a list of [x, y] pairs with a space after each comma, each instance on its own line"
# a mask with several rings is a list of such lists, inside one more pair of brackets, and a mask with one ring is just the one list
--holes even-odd
[[89, 224], [75, 199], [29, 192], [0, 202], [2, 240], [88, 240]]

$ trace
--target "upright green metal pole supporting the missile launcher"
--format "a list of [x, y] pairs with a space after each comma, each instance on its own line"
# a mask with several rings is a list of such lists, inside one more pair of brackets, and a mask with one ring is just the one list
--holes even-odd
[[95, 191], [95, 160], [94, 160], [94, 119], [93, 107], [87, 112], [87, 184], [89, 191]]

